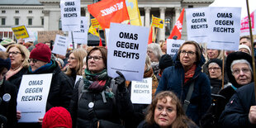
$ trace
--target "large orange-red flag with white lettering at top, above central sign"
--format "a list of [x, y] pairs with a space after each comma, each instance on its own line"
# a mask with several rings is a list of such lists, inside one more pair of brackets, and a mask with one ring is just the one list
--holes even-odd
[[88, 5], [88, 11], [97, 19], [103, 30], [109, 28], [111, 22], [130, 20], [126, 0], [102, 0]]

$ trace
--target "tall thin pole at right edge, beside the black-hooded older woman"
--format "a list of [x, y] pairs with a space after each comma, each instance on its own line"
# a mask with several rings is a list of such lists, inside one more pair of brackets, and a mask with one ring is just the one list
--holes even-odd
[[253, 69], [254, 69], [254, 97], [256, 100], [256, 75], [255, 75], [255, 60], [254, 60], [254, 38], [253, 38], [253, 31], [252, 31], [252, 24], [251, 24], [251, 17], [249, 15], [249, 2], [246, 0], [246, 6], [247, 6], [247, 14], [249, 19], [249, 36], [251, 38], [251, 50], [252, 50], [252, 59], [253, 59]]

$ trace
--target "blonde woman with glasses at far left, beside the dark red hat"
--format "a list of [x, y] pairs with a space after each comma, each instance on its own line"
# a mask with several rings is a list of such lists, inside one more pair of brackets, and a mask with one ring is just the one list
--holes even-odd
[[19, 44], [9, 45], [7, 53], [11, 59], [11, 69], [7, 72], [6, 79], [19, 89], [22, 75], [27, 73], [30, 53], [24, 45]]

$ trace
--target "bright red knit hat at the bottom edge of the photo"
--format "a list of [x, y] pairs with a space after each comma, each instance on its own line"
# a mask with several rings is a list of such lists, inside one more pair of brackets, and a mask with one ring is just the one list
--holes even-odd
[[42, 128], [72, 128], [72, 119], [64, 107], [52, 107], [45, 113]]

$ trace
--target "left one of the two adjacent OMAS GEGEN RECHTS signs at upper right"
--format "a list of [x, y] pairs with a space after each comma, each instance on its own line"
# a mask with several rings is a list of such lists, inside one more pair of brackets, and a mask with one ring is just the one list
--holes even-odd
[[187, 8], [187, 40], [194, 40], [197, 43], [206, 43], [209, 7]]

